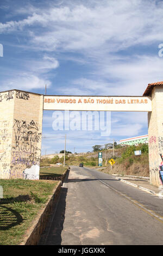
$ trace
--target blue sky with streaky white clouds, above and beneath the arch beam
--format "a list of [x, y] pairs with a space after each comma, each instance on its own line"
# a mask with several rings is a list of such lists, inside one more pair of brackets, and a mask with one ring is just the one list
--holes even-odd
[[[55, 95], [142, 95], [162, 81], [163, 2], [154, 0], [1, 0], [1, 91]], [[54, 131], [43, 114], [42, 153], [91, 151], [148, 133], [147, 113], [112, 112], [111, 134]], [[73, 137], [73, 138], [72, 138]], [[74, 137], [81, 138], [74, 139]], [[83, 139], [82, 139], [83, 138]]]

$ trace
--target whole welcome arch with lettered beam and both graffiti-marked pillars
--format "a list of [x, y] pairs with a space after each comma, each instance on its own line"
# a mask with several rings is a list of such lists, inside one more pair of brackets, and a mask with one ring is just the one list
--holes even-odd
[[163, 82], [148, 84], [143, 96], [42, 95], [17, 89], [1, 92], [0, 178], [39, 179], [43, 110], [146, 111], [150, 182], [160, 186], [162, 99]]

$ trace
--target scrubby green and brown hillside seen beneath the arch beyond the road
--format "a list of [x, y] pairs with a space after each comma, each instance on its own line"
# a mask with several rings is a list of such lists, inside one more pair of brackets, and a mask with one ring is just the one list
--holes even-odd
[[[141, 150], [142, 155], [135, 156], [135, 150]], [[103, 153], [104, 172], [110, 174], [149, 176], [147, 144], [139, 144], [137, 147], [127, 146], [115, 148], [114, 157], [112, 149], [102, 150], [101, 152]], [[115, 160], [112, 168], [109, 164], [111, 158]], [[41, 157], [41, 166], [56, 164], [58, 162], [64, 162], [63, 154], [61, 157], [59, 157], [59, 154], [53, 154], [51, 158], [47, 156], [46, 158]], [[98, 168], [98, 152], [66, 155], [66, 166], [79, 165], [79, 163], [83, 163], [86, 167]]]

